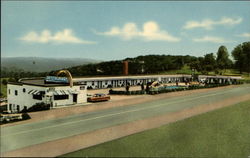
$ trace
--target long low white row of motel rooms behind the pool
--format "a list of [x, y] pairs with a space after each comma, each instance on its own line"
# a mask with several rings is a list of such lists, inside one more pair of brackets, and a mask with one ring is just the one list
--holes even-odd
[[[124, 87], [146, 85], [148, 82], [158, 81], [161, 83], [185, 82], [192, 79], [191, 75], [147, 75], [147, 76], [114, 76], [114, 77], [91, 77], [91, 78], [73, 78], [74, 83], [85, 84], [87, 89], [102, 89], [113, 87]], [[237, 76], [206, 76], [199, 75], [199, 81], [208, 83], [233, 83], [241, 77]]]

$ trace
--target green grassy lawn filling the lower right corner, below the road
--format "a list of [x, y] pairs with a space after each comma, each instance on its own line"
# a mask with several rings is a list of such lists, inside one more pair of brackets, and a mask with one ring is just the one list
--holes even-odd
[[250, 100], [62, 157], [247, 158], [250, 156], [249, 121]]

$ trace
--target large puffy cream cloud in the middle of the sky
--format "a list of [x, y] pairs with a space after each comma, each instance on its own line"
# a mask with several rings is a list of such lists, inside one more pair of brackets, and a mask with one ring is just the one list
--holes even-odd
[[99, 35], [118, 36], [124, 40], [140, 38], [145, 41], [169, 41], [179, 42], [180, 38], [170, 35], [167, 31], [161, 30], [159, 25], [154, 21], [148, 21], [143, 24], [142, 29], [138, 29], [135, 23], [126, 23], [122, 28], [112, 27], [107, 32], [96, 32]]

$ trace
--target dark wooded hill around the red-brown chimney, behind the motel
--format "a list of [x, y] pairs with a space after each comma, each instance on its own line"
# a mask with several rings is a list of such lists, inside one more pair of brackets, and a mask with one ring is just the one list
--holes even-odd
[[[129, 62], [129, 74], [159, 73], [181, 69], [185, 64], [194, 61], [193, 56], [146, 55], [126, 58]], [[68, 68], [73, 76], [122, 75], [123, 60], [101, 62]]]

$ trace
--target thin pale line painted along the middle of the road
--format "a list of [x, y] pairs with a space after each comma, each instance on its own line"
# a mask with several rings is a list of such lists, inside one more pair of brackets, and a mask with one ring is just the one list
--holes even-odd
[[[250, 88], [250, 87], [247, 87], [247, 88]], [[152, 108], [160, 107], [162, 105], [169, 105], [169, 104], [181, 103], [181, 102], [186, 102], [188, 100], [196, 100], [196, 99], [199, 99], [199, 98], [204, 98], [204, 97], [209, 97], [209, 96], [215, 96], [215, 95], [218, 95], [218, 94], [226, 94], [226, 93], [230, 93], [232, 90], [234, 90], [234, 89], [230, 89], [227, 92], [219, 92], [219, 93], [203, 95], [203, 96], [199, 96], [199, 97], [195, 97], [195, 98], [189, 98], [189, 99], [185, 99], [184, 101], [177, 100], [177, 101], [173, 101], [173, 102], [168, 102], [168, 103], [163, 103], [163, 104], [158, 104], [158, 105], [152, 105], [150, 107], [143, 107], [143, 108], [138, 108], [138, 109], [134, 109], [134, 110], [127, 110], [127, 111], [123, 111], [123, 112], [118, 112], [118, 113], [113, 113], [113, 114], [107, 114], [107, 115], [103, 115], [103, 116], [98, 116], [98, 117], [93, 117], [93, 118], [88, 118], [88, 119], [83, 119], [83, 120], [78, 120], [78, 121], [71, 121], [71, 122], [62, 123], [62, 124], [58, 124], [58, 125], [52, 125], [52, 126], [47, 126], [47, 127], [42, 127], [42, 128], [36, 128], [36, 129], [30, 129], [30, 130], [21, 131], [21, 132], [18, 132], [18, 133], [7, 134], [7, 135], [0, 136], [0, 137], [13, 136], [13, 135], [18, 135], [18, 134], [22, 134], [22, 133], [28, 133], [28, 132], [31, 132], [31, 131], [38, 131], [38, 130], [42, 130], [42, 129], [46, 129], [46, 128], [54, 128], [54, 127], [64, 126], [64, 125], [68, 125], [68, 124], [74, 124], [74, 123], [78, 123], [78, 122], [96, 120], [96, 119], [100, 119], [100, 118], [104, 118], [104, 117], [110, 117], [110, 116], [115, 116], [115, 115], [120, 115], [120, 114], [135, 112], [135, 111], [142, 111], [142, 110], [146, 110], [146, 109], [152, 109]]]

